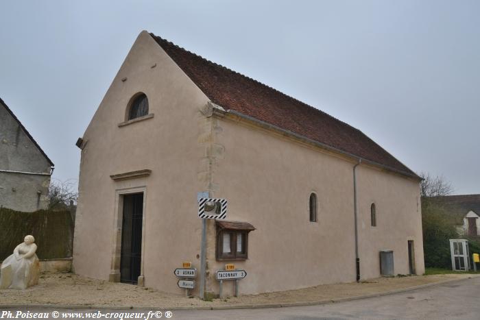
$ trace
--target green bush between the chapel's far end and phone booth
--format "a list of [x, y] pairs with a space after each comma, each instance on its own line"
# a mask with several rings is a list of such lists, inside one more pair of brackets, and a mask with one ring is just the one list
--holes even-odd
[[452, 267], [450, 239], [458, 238], [455, 221], [441, 206], [422, 204], [425, 267]]

